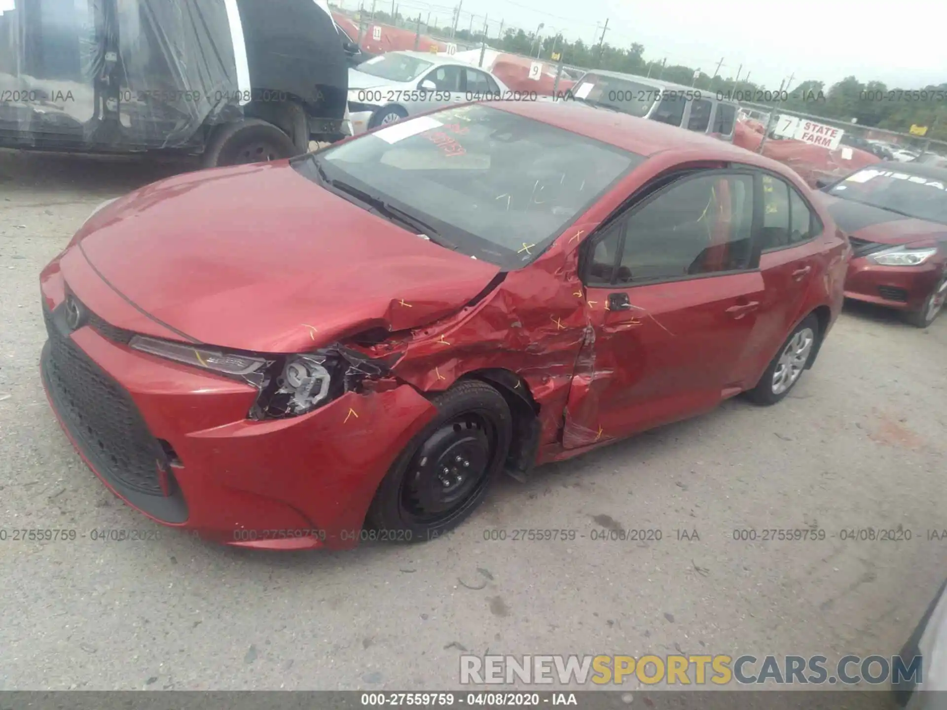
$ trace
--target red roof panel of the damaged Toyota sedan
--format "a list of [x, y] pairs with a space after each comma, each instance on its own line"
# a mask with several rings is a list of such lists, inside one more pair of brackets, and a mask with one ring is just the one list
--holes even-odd
[[702, 151], [706, 160], [747, 163], [782, 174], [788, 170], [775, 160], [704, 133], [575, 101], [488, 101], [486, 105], [646, 157], [664, 151]]

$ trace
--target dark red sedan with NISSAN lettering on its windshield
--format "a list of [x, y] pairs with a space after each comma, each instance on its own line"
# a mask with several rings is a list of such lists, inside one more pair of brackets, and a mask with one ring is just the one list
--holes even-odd
[[947, 297], [947, 169], [876, 163], [823, 190], [854, 249], [846, 296], [931, 325]]

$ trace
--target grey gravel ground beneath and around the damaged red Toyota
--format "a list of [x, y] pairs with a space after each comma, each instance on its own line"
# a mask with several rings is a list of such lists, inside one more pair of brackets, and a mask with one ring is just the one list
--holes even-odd
[[[158, 528], [49, 411], [37, 276], [96, 204], [174, 169], [0, 153], [0, 529], [78, 535], [0, 541], [0, 689], [455, 688], [463, 649], [890, 655], [936, 592], [947, 317], [919, 330], [854, 307], [776, 407], [728, 401], [505, 480], [449, 538], [290, 554], [92, 541]], [[589, 539], [618, 525], [663, 540]], [[912, 541], [838, 537], [899, 525]], [[827, 539], [735, 541], [738, 527]], [[485, 540], [495, 528], [586, 537]]]

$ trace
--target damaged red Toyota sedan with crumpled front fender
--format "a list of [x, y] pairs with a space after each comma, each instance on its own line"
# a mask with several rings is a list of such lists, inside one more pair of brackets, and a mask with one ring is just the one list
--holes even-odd
[[279, 549], [427, 540], [503, 470], [785, 397], [850, 256], [810, 197], [654, 121], [454, 107], [101, 206], [43, 272], [43, 380], [158, 523]]

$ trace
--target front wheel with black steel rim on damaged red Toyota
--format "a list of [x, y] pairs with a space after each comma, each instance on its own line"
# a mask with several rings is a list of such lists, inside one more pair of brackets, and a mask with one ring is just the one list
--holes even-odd
[[404, 448], [368, 508], [366, 526], [383, 540], [427, 541], [454, 529], [507, 460], [512, 415], [493, 387], [459, 382], [433, 403], [438, 416]]

